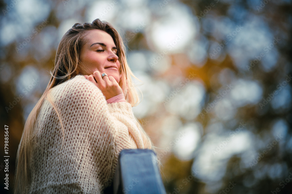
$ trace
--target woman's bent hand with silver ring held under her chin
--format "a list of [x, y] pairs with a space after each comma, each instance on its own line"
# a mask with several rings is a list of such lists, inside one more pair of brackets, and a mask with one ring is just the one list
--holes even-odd
[[94, 83], [105, 96], [106, 99], [112, 98], [123, 93], [119, 83], [112, 76], [103, 76], [99, 71], [93, 72], [93, 75], [84, 75], [84, 77]]

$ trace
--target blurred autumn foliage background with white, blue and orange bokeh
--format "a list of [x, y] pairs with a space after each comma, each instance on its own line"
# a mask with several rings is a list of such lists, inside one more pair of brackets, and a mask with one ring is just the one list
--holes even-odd
[[[1, 150], [15, 157], [60, 39], [96, 18], [124, 38], [133, 107], [168, 193], [291, 193], [289, 0], [0, 1]], [[9, 154], [4, 154], [4, 125]], [[4, 180], [4, 157], [0, 162]]]

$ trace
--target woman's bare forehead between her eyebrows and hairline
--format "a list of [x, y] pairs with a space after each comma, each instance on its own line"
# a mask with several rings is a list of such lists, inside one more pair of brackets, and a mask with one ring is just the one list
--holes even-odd
[[89, 30], [85, 35], [86, 44], [93, 44], [95, 42], [102, 42], [106, 45], [115, 46], [111, 35], [102, 30]]

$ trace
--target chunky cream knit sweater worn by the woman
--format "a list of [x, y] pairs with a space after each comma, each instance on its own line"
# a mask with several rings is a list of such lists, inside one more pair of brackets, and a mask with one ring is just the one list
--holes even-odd
[[[146, 149], [131, 104], [107, 104], [83, 75], [51, 89], [64, 127], [48, 100], [36, 125], [29, 193], [103, 193], [122, 149]], [[146, 144], [145, 144], [146, 145]]]

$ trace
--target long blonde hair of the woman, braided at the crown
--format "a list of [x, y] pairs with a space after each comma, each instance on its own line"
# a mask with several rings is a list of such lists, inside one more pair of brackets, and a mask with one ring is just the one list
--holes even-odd
[[[30, 174], [30, 163], [32, 156], [32, 149], [36, 145], [34, 136], [36, 135], [36, 126], [37, 126], [37, 117], [43, 104], [44, 100], [48, 100], [59, 117], [61, 122], [62, 131], [64, 134], [64, 128], [62, 125], [61, 115], [58, 113], [58, 107], [54, 105], [53, 97], [50, 95], [50, 89], [59, 85], [76, 75], [81, 75], [82, 70], [86, 69], [86, 66], [82, 64], [79, 60], [79, 53], [84, 45], [84, 37], [88, 30], [102, 30], [107, 32], [112, 36], [114, 43], [117, 47], [119, 53], [119, 61], [121, 63], [120, 73], [121, 79], [119, 85], [121, 86], [124, 96], [127, 102], [132, 106], [135, 106], [139, 103], [138, 93], [135, 90], [135, 86], [131, 80], [131, 76], [136, 78], [131, 69], [129, 68], [126, 61], [126, 52], [125, 47], [119, 33], [114, 29], [114, 27], [105, 22], [100, 21], [99, 19], [94, 20], [92, 23], [76, 23], [71, 29], [69, 29], [65, 35], [62, 37], [60, 44], [57, 49], [55, 57], [55, 66], [54, 70], [51, 73], [51, 79], [44, 91], [43, 95], [36, 103], [36, 106], [32, 109], [29, 114], [27, 121], [25, 122], [24, 130], [22, 133], [22, 138], [18, 147], [17, 158], [16, 158], [16, 173], [15, 173], [15, 187], [14, 193], [27, 193], [29, 189], [31, 174]], [[138, 125], [140, 123], [137, 120]], [[141, 125], [140, 125], [141, 126]], [[150, 140], [147, 133], [142, 130], [144, 135], [143, 142], [145, 148], [153, 148], [153, 143]], [[64, 137], [64, 135], [63, 135]], [[64, 139], [63, 139], [64, 140]]]

